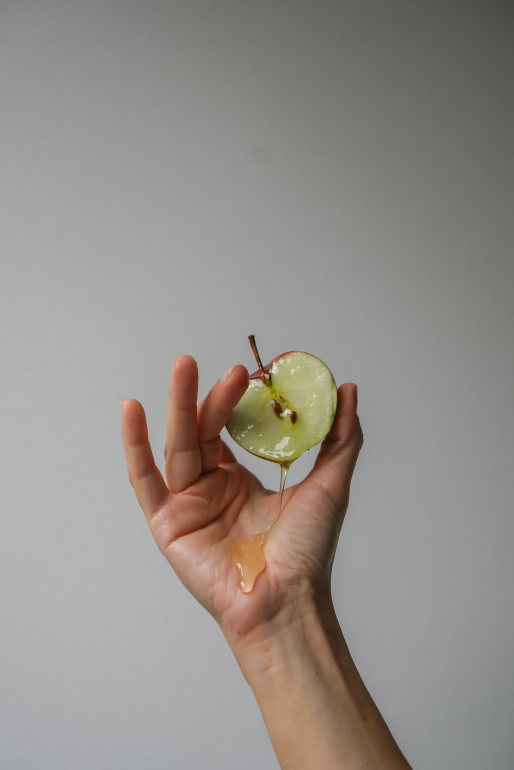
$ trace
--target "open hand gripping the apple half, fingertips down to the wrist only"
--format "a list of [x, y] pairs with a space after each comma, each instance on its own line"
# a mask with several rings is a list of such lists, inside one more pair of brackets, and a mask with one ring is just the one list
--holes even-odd
[[277, 510], [277, 493], [264, 490], [220, 438], [247, 384], [247, 370], [232, 367], [197, 404], [197, 364], [190, 356], [176, 358], [166, 418], [166, 481], [153, 459], [143, 407], [133, 399], [122, 404], [129, 480], [156, 544], [233, 647], [269, 627], [303, 595], [329, 593], [363, 441], [357, 388], [347, 383], [338, 389], [334, 425], [314, 469], [286, 487], [281, 516], [264, 547], [266, 570], [243, 594], [230, 545], [264, 531]]

